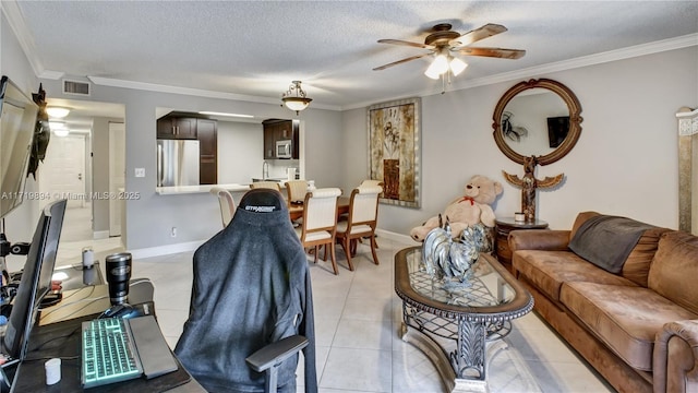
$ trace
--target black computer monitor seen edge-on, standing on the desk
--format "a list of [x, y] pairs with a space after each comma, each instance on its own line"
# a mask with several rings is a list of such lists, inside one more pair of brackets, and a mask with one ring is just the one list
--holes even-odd
[[14, 297], [10, 320], [2, 337], [2, 349], [12, 359], [26, 356], [32, 325], [39, 303], [51, 289], [51, 276], [63, 226], [65, 200], [52, 202], [41, 212], [26, 257], [22, 281]]

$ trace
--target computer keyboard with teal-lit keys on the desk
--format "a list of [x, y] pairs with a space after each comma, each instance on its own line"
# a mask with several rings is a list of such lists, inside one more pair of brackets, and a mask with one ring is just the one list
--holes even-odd
[[143, 368], [125, 320], [96, 319], [82, 324], [84, 388], [141, 377]]

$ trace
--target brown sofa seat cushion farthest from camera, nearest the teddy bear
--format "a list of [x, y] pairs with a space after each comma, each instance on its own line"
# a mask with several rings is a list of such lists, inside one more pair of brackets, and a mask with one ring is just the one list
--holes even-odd
[[559, 300], [565, 282], [592, 282], [613, 285], [636, 284], [598, 269], [571, 251], [517, 250], [513, 266], [551, 300]]

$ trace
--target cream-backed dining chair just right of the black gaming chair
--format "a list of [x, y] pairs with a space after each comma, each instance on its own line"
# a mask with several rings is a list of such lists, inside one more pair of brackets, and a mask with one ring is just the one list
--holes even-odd
[[309, 191], [303, 200], [303, 222], [296, 228], [296, 234], [301, 239], [303, 248], [313, 247], [315, 249], [315, 261], [320, 246], [325, 246], [324, 260], [329, 258], [335, 274], [337, 260], [335, 258], [335, 230], [337, 229], [337, 198], [341, 194], [338, 188], [324, 188]]

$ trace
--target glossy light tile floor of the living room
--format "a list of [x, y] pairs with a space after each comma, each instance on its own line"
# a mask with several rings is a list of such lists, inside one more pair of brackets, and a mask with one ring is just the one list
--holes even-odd
[[[69, 211], [65, 234], [81, 231], [79, 223], [85, 221], [73, 219], [79, 215]], [[69, 238], [74, 240], [72, 235]], [[59, 264], [79, 261], [80, 250], [87, 245], [104, 260], [120, 241], [61, 241]], [[413, 245], [382, 237], [378, 246], [381, 264], [373, 264], [363, 245], [353, 260], [354, 272], [346, 267], [346, 258], [338, 251], [338, 276], [332, 274], [328, 262], [309, 262], [321, 392], [443, 392], [430, 360], [397, 335], [401, 302], [394, 291], [393, 261], [396, 251]], [[172, 347], [189, 310], [192, 254], [141, 259], [133, 264], [134, 277], [148, 277], [155, 285], [158, 321]], [[509, 349], [496, 355], [490, 367], [492, 392], [613, 392], [534, 313], [516, 320], [505, 341]]]

